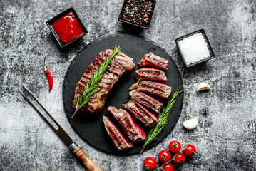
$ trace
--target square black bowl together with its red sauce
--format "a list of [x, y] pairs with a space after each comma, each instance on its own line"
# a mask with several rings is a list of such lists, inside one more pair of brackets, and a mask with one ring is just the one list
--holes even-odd
[[61, 47], [68, 46], [88, 33], [73, 7], [46, 22]]

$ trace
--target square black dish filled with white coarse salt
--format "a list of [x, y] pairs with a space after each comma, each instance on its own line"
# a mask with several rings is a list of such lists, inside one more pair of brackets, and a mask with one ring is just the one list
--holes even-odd
[[214, 58], [213, 48], [203, 29], [175, 39], [186, 67]]

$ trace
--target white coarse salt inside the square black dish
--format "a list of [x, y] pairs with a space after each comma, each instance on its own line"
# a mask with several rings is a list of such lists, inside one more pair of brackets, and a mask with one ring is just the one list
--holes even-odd
[[205, 61], [211, 56], [203, 33], [195, 33], [192, 36], [183, 38], [181, 41], [178, 41], [178, 46], [187, 67], [193, 66], [200, 61]]

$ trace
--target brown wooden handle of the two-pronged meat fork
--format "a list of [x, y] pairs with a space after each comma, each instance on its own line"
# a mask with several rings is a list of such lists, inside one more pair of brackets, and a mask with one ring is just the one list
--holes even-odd
[[76, 155], [78, 159], [80, 159], [83, 162], [83, 165], [84, 167], [86, 167], [86, 170], [102, 171], [101, 167], [98, 167], [98, 165], [86, 155], [86, 153], [81, 149], [81, 147], [78, 147], [75, 143], [73, 144], [73, 146], [70, 147], [71, 151], [73, 152], [73, 154]]

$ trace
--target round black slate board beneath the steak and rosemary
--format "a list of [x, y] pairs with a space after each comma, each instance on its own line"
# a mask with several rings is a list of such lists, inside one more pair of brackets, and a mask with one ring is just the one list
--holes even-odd
[[[134, 63], [136, 64], [135, 69], [133, 71], [126, 71], [126, 73], [123, 73], [119, 81], [115, 84], [115, 86], [113, 86], [111, 93], [108, 94], [103, 111], [93, 114], [79, 111], [76, 116], [71, 119], [71, 115], [75, 111], [72, 107], [72, 102], [76, 83], [78, 83], [81, 76], [83, 75], [83, 72], [86, 71], [86, 68], [90, 65], [90, 63], [100, 51], [103, 51], [107, 48], [113, 48], [115, 45], [121, 46], [121, 51], [134, 59]], [[140, 152], [143, 146], [143, 142], [135, 144], [133, 148], [126, 151], [118, 150], [115, 145], [113, 145], [111, 138], [108, 136], [108, 133], [104, 128], [102, 118], [103, 115], [106, 115], [116, 125], [118, 130], [120, 130], [121, 133], [123, 133], [123, 135], [128, 139], [115, 118], [113, 118], [111, 113], [108, 113], [107, 107], [109, 105], [113, 105], [117, 108], [123, 108], [123, 103], [126, 103], [128, 100], [130, 100], [130, 95], [128, 95], [128, 93], [130, 86], [135, 83], [134, 73], [135, 70], [139, 68], [137, 63], [141, 58], [143, 58], [145, 53], [149, 52], [153, 52], [156, 55], [169, 60], [168, 71], [166, 71], [168, 81], [165, 83], [168, 84], [168, 86], [173, 87], [173, 92], [178, 88], [180, 84], [181, 88], [183, 88], [180, 72], [178, 71], [177, 66], [173, 62], [173, 59], [170, 58], [168, 53], [166, 53], [163, 48], [160, 48], [160, 46], [153, 43], [152, 41], [138, 36], [116, 34], [113, 36], [101, 38], [100, 40], [94, 43], [90, 43], [88, 46], [83, 48], [83, 50], [78, 53], [78, 55], [71, 62], [63, 82], [63, 105], [65, 113], [76, 133], [78, 133], [78, 135], [83, 140], [88, 142], [93, 147], [116, 155], [132, 155]], [[165, 104], [167, 103], [167, 100], [160, 100]], [[174, 128], [175, 123], [180, 116], [182, 107], [183, 93], [178, 96], [173, 111], [170, 113], [170, 117], [168, 118], [168, 125], [165, 125], [165, 128], [158, 135], [158, 140], [155, 140], [150, 145], [148, 145], [145, 150], [157, 145], [168, 134], [170, 134], [170, 131]], [[131, 115], [133, 116], [133, 114]], [[137, 121], [139, 125], [143, 126], [145, 133], [148, 133], [149, 129], [145, 128], [145, 126], [140, 123], [139, 120]]]

